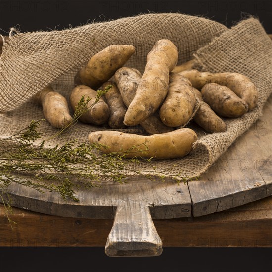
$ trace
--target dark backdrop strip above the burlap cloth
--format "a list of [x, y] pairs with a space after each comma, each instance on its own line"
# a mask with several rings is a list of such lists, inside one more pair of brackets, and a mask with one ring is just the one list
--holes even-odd
[[21, 32], [75, 27], [147, 12], [177, 12], [203, 15], [228, 27], [246, 14], [258, 16], [272, 33], [272, 1], [268, 0], [1, 0], [1, 34], [10, 27]]

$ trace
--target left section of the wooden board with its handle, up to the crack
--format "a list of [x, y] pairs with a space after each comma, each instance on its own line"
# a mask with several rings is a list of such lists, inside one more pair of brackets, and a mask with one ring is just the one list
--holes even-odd
[[[9, 197], [15, 207], [50, 215], [95, 219], [114, 217], [105, 253], [115, 257], [160, 255], [162, 241], [152, 218], [191, 215], [187, 183], [178, 184], [169, 178], [162, 182], [160, 179], [150, 181], [144, 177], [132, 177], [126, 184], [104, 186], [103, 190], [80, 190], [76, 192], [79, 203], [64, 201], [54, 192], [40, 194], [18, 184], [9, 186]], [[111, 201], [104, 202], [109, 199]]]

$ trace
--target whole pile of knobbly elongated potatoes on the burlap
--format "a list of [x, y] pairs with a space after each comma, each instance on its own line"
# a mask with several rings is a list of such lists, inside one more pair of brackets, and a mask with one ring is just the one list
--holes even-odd
[[[79, 101], [89, 98], [90, 109], [80, 121], [108, 123], [112, 129], [141, 125], [149, 136], [113, 130], [92, 132], [89, 141], [109, 148], [104, 153], [125, 152], [127, 157], [181, 158], [197, 140], [183, 128], [193, 120], [207, 132], [224, 132], [220, 117], [241, 117], [256, 107], [254, 84], [238, 73], [209, 73], [192, 69], [194, 60], [177, 65], [178, 50], [169, 40], [159, 40], [147, 55], [144, 73], [123, 67], [135, 52], [132, 45], [111, 45], [91, 57], [75, 76], [70, 95], [75, 111]], [[97, 103], [97, 92], [112, 87]], [[45, 118], [57, 128], [72, 122], [66, 99], [50, 86], [36, 95]], [[144, 144], [144, 147], [142, 146]], [[142, 151], [144, 149], [144, 152]], [[145, 150], [146, 149], [146, 150]]]

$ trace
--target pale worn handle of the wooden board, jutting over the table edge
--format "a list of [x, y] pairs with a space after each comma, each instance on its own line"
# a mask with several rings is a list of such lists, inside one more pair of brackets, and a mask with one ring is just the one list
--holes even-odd
[[150, 209], [140, 202], [117, 206], [105, 246], [110, 257], [149, 257], [162, 253], [162, 240], [151, 218]]

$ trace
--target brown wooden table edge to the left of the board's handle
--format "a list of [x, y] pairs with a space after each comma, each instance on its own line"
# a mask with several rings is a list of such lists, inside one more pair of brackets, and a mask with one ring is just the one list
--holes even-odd
[[50, 216], [13, 208], [11, 229], [0, 204], [0, 246], [105, 246], [113, 220]]

